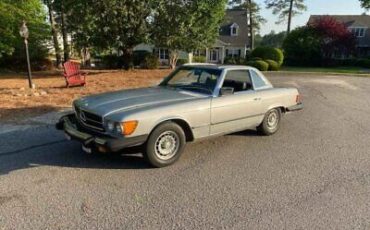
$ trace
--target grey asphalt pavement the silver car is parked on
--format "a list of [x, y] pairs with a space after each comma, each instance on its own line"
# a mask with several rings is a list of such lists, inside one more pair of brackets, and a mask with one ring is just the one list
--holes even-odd
[[86, 155], [51, 125], [0, 134], [0, 229], [369, 229], [370, 78], [269, 79], [305, 109], [167, 168]]

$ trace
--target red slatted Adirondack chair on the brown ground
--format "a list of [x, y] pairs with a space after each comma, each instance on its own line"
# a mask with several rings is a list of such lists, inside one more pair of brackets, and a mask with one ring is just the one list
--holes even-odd
[[66, 79], [67, 87], [69, 86], [84, 86], [86, 84], [87, 73], [80, 70], [80, 63], [67, 61], [63, 64], [64, 78]]

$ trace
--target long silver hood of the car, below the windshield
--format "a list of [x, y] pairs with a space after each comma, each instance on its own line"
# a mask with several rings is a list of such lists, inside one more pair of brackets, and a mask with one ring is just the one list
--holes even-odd
[[75, 101], [75, 106], [100, 116], [107, 116], [145, 106], [168, 105], [200, 97], [205, 95], [166, 87], [151, 87], [83, 97]]

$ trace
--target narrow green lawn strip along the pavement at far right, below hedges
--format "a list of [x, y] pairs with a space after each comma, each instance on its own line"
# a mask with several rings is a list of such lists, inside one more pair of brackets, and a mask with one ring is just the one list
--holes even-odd
[[334, 73], [334, 74], [370, 74], [370, 69], [361, 67], [290, 67], [284, 66], [281, 71], [288, 72], [312, 72], [312, 73]]

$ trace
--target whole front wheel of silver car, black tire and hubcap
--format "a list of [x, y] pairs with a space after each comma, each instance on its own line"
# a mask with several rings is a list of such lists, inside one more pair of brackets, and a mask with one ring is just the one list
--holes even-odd
[[186, 144], [184, 130], [173, 122], [160, 124], [150, 134], [144, 158], [152, 166], [161, 168], [175, 163]]

